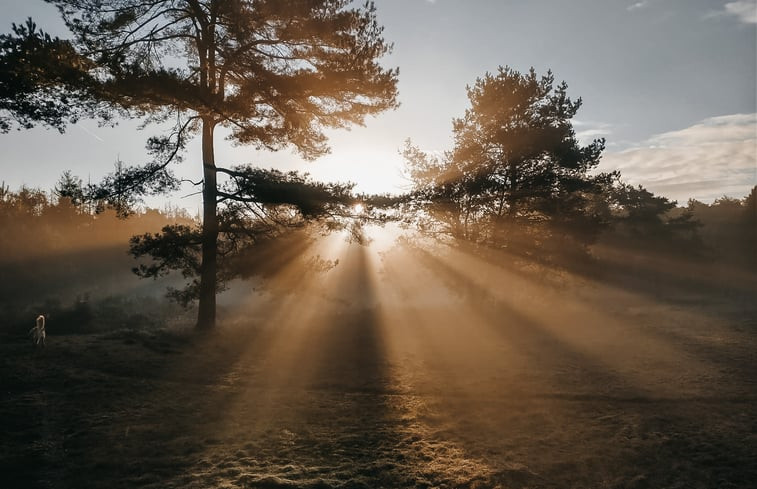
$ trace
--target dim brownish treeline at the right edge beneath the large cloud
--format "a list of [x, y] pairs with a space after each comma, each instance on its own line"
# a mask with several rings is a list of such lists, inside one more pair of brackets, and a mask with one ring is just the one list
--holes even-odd
[[623, 186], [610, 200], [608, 225], [577, 271], [673, 300], [754, 300], [757, 187], [742, 199], [692, 199], [685, 207], [642, 187]]

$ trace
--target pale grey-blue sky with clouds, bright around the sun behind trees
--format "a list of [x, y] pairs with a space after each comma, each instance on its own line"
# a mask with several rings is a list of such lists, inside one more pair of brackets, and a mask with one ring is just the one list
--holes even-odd
[[[584, 142], [607, 140], [602, 170], [685, 205], [743, 197], [757, 184], [757, 0], [377, 0], [384, 58], [399, 67], [400, 107], [364, 127], [329, 131], [331, 154], [302, 161], [234, 147], [216, 138], [219, 164], [297, 169], [352, 181], [364, 192], [409, 186], [399, 150], [451, 148], [452, 119], [468, 107], [465, 87], [498, 66], [551, 69], [583, 106], [574, 127]], [[0, 31], [33, 17], [52, 34], [65, 28], [41, 0], [0, 0]], [[0, 181], [50, 189], [64, 170], [99, 180], [117, 159], [147, 160], [156, 129], [136, 121], [101, 128], [82, 121], [61, 135], [33, 129], [0, 134]], [[200, 176], [199, 141], [179, 175]], [[192, 213], [200, 197], [170, 198]], [[162, 201], [161, 201], [162, 202]], [[153, 202], [148, 202], [153, 203]], [[157, 203], [155, 204], [157, 205]]]

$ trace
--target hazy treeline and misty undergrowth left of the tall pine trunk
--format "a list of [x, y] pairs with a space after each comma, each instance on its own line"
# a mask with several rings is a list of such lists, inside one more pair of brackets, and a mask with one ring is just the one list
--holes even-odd
[[176, 315], [166, 283], [139, 280], [128, 253], [133, 235], [176, 223], [196, 221], [183, 209], [121, 219], [55, 191], [0, 186], [0, 331], [18, 333], [38, 314], [59, 332], [149, 327]]

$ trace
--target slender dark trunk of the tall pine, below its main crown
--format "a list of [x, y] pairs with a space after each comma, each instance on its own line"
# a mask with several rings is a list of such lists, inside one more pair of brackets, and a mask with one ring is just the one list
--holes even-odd
[[214, 123], [202, 122], [202, 264], [200, 265], [200, 304], [197, 329], [212, 329], [216, 324], [218, 214], [215, 155], [213, 153]]

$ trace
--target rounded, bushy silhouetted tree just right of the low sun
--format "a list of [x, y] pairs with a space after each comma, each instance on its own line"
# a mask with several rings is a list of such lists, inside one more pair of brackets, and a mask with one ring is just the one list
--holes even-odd
[[513, 252], [594, 240], [608, 216], [601, 196], [617, 175], [590, 174], [604, 140], [579, 144], [571, 118], [581, 100], [533, 69], [500, 67], [467, 90], [471, 106], [453, 121], [450, 152], [405, 148], [416, 200], [454, 237]]

